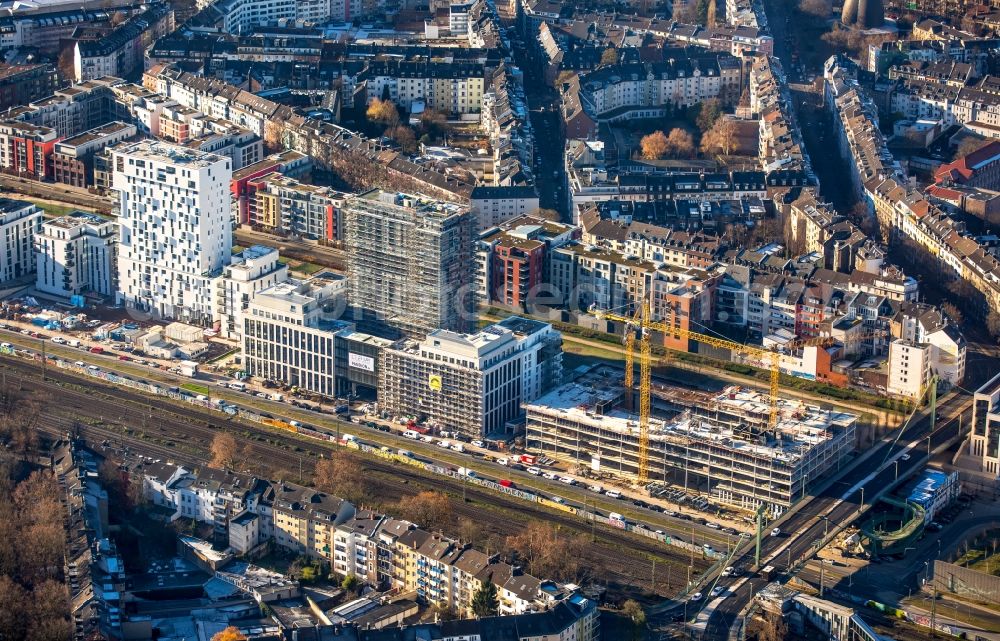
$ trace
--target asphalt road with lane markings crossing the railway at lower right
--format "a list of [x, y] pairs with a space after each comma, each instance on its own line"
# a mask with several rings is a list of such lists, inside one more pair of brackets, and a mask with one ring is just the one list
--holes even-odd
[[[910, 459], [899, 462], [900, 475], [915, 472], [923, 466], [927, 458], [928, 435], [930, 435], [931, 449], [954, 437], [959, 429], [956, 417], [969, 406], [971, 398], [968, 395], [956, 395], [947, 403], [938, 406], [938, 426], [933, 432], [930, 429], [930, 418], [924, 416], [914, 420], [906, 428], [897, 444], [883, 442], [878, 445], [869, 459], [871, 464], [857, 466], [781, 524], [783, 532], [794, 534], [768, 537], [762, 542], [761, 565], [774, 566], [779, 574], [784, 574], [790, 566], [794, 566], [801, 558], [811, 554], [815, 549], [815, 543], [823, 538], [829, 523], [850, 522], [858, 514], [863, 500], [870, 500], [895, 480], [895, 465], [890, 462], [890, 457], [901, 455], [907, 450], [910, 442], [919, 441], [920, 445], [910, 450]], [[872, 471], [874, 465], [878, 467]], [[867, 499], [865, 499], [866, 492]], [[823, 516], [825, 520], [821, 518]], [[782, 550], [776, 555], [783, 546], [787, 546], [787, 551]], [[776, 558], [772, 559], [774, 556]], [[753, 562], [751, 549], [737, 559], [734, 565], [750, 567]], [[711, 613], [705, 629], [705, 638], [727, 639], [739, 612], [749, 603], [753, 593], [760, 591], [767, 584], [768, 581], [760, 576], [753, 576], [744, 581]]]

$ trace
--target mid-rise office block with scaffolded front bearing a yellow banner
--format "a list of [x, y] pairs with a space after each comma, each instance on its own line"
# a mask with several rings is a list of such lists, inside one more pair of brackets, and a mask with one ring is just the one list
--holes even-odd
[[472, 437], [513, 434], [521, 406], [562, 381], [562, 337], [511, 316], [475, 334], [436, 330], [382, 350], [379, 407]]

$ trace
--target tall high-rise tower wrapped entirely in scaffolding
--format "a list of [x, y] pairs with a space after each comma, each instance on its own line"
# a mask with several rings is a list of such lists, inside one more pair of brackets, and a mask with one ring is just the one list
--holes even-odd
[[467, 207], [374, 190], [351, 198], [344, 210], [354, 308], [412, 337], [472, 329], [475, 261]]

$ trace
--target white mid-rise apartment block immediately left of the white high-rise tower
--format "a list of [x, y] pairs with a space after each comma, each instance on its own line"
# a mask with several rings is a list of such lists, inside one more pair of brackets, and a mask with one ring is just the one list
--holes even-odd
[[117, 291], [118, 223], [76, 212], [46, 220], [35, 233], [35, 288], [60, 298], [112, 297]]

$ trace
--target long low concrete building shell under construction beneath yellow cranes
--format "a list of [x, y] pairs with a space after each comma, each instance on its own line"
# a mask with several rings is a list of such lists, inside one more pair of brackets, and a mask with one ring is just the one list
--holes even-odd
[[[854, 449], [857, 416], [779, 400], [768, 426], [768, 395], [656, 385], [649, 424], [649, 480], [689, 494], [781, 514]], [[625, 409], [623, 372], [588, 370], [526, 405], [527, 446], [596, 473], [634, 479], [639, 418]]]

